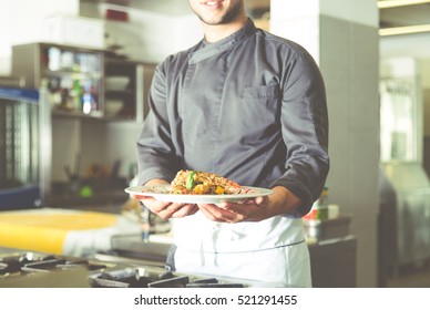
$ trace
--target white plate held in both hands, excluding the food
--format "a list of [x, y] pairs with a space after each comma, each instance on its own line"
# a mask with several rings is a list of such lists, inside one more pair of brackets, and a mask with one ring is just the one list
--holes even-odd
[[181, 204], [221, 204], [224, 202], [237, 203], [247, 198], [255, 198], [259, 196], [268, 196], [273, 193], [272, 189], [244, 186], [248, 189], [244, 194], [231, 195], [184, 195], [168, 193], [170, 184], [154, 185], [154, 186], [131, 186], [125, 188], [130, 195], [151, 196], [158, 202], [181, 203]]

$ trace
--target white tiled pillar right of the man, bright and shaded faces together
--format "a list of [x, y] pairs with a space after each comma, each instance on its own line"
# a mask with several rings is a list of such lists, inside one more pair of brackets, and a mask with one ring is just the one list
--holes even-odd
[[[359, 4], [359, 9], [350, 7], [351, 2]], [[305, 42], [305, 48], [314, 54], [315, 49], [318, 50], [316, 59], [326, 82], [330, 118], [329, 199], [338, 204], [341, 211], [354, 215], [351, 232], [358, 239], [357, 285], [375, 287], [379, 208], [377, 8], [370, 0], [336, 0], [330, 3], [313, 0], [311, 7], [318, 8], [318, 14], [315, 10], [308, 10], [306, 14], [297, 8], [309, 8], [306, 6], [308, 1], [306, 4], [293, 4], [290, 1], [272, 0], [270, 3], [275, 10], [270, 29], [288, 39], [299, 38], [297, 40]], [[299, 23], [297, 20], [304, 17], [306, 23]], [[346, 20], [346, 17], [352, 21]], [[319, 28], [319, 32], [315, 27]]]

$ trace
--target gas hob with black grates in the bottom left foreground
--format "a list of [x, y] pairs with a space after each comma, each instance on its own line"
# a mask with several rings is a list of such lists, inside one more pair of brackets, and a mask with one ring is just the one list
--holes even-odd
[[0, 287], [246, 288], [239, 279], [184, 275], [167, 268], [113, 258], [110, 261], [23, 250], [0, 250]]

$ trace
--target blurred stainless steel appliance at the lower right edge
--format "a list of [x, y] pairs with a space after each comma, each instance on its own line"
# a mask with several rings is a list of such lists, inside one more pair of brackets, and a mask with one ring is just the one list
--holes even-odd
[[430, 258], [430, 182], [419, 163], [381, 164], [380, 220], [388, 272]]

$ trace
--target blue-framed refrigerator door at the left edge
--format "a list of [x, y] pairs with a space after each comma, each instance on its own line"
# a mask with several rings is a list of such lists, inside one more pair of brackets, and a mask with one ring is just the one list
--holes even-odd
[[39, 91], [0, 87], [0, 208], [41, 204]]

